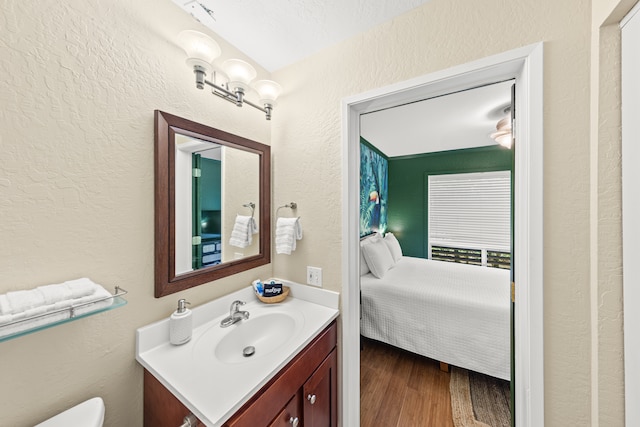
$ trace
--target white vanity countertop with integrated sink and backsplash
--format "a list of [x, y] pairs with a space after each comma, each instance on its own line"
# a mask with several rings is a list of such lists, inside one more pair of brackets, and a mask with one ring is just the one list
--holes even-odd
[[[139, 328], [136, 359], [204, 425], [220, 427], [338, 316], [337, 293], [287, 285], [292, 295], [278, 304], [258, 301], [247, 286], [195, 307], [184, 345], [169, 343], [169, 319]], [[250, 317], [221, 328], [234, 300], [247, 301], [241, 309]], [[255, 353], [244, 357], [248, 345]]]

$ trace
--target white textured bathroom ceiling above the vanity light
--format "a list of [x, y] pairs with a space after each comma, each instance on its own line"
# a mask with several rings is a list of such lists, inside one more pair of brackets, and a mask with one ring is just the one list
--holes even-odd
[[428, 0], [173, 0], [268, 71], [414, 9]]

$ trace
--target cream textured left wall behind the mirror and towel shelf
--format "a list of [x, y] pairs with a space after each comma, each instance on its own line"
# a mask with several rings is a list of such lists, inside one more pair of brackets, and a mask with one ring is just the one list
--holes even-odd
[[[107, 426], [142, 425], [135, 329], [271, 275], [264, 266], [153, 298], [153, 110], [270, 143], [270, 125], [198, 91], [171, 1], [0, 3], [0, 293], [88, 276], [129, 304], [0, 343], [0, 425], [94, 395]], [[223, 55], [242, 54], [219, 40]], [[258, 70], [262, 78], [269, 77]]]

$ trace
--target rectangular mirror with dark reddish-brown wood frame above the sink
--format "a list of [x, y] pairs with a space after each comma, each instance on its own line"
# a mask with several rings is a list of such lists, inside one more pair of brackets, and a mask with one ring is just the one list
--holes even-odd
[[155, 297], [271, 262], [271, 147], [155, 111]]

